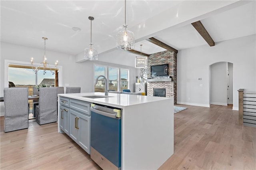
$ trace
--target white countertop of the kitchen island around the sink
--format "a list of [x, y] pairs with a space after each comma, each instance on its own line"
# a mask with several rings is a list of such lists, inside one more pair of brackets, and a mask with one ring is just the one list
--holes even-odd
[[78, 99], [81, 101], [88, 101], [91, 103], [98, 103], [102, 105], [108, 105], [108, 106], [119, 107], [119, 108], [124, 108], [126, 106], [131, 106], [131, 105], [139, 105], [142, 103], [161, 101], [161, 100], [172, 101], [170, 97], [153, 97], [153, 96], [126, 95], [126, 94], [116, 94], [116, 93], [108, 93], [108, 97], [106, 98], [91, 99], [88, 97], [83, 97], [83, 96], [93, 96], [93, 95], [105, 96], [105, 94], [101, 92], [59, 94], [59, 96], [62, 96], [62, 97], [69, 97], [69, 98]]

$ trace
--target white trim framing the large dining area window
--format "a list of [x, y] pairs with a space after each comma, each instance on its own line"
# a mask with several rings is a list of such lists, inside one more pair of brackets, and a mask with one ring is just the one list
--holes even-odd
[[[4, 60], [4, 87], [9, 87], [9, 83], [8, 83], [8, 65], [9, 64], [18, 64], [18, 65], [28, 65], [31, 66], [30, 62], [25, 62], [25, 61], [15, 61], [15, 60], [8, 60], [5, 59]], [[34, 63], [34, 65], [40, 65], [40, 63]], [[55, 67], [51, 67], [51, 68], [55, 68]], [[63, 86], [62, 83], [62, 65], [58, 65], [58, 86]]]

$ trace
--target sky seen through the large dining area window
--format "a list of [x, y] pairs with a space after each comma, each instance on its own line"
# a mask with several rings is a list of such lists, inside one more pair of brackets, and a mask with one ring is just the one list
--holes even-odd
[[[36, 74], [32, 69], [9, 67], [8, 81], [12, 81], [15, 85], [36, 85]], [[37, 78], [38, 85], [41, 81], [46, 79], [55, 79], [50, 70], [46, 70], [44, 75], [43, 70], [39, 70]]]

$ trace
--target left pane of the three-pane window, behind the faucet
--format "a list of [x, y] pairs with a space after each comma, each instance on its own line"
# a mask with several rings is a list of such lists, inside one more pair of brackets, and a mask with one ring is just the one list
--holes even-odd
[[[106, 77], [106, 67], [100, 65], [94, 65], [94, 82], [99, 75], [104, 75]], [[105, 80], [104, 78], [98, 79], [98, 83], [94, 85], [94, 92], [104, 92], [105, 91]]]

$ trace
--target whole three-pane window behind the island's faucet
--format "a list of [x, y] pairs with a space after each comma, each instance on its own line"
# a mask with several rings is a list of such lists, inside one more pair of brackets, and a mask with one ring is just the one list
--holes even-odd
[[[108, 80], [108, 90], [122, 91], [122, 89], [128, 89], [129, 87], [129, 69], [122, 69], [118, 67], [94, 65], [94, 82], [96, 77], [104, 75]], [[100, 78], [97, 85], [94, 86], [94, 92], [105, 91], [105, 80]]]

